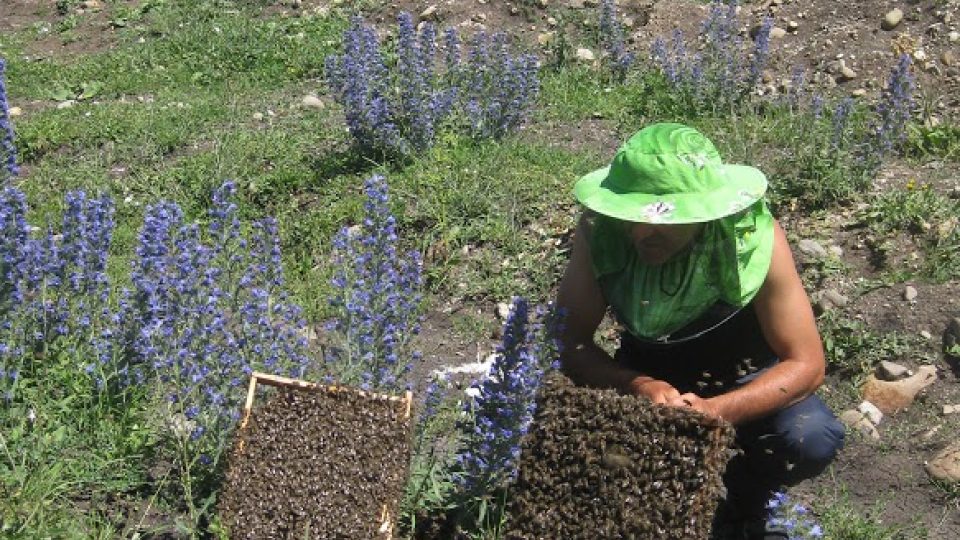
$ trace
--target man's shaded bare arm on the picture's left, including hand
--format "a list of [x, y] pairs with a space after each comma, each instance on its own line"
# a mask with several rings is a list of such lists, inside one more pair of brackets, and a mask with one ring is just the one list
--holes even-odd
[[566, 313], [560, 356], [563, 371], [578, 384], [614, 388], [666, 403], [680, 395], [673, 386], [621, 367], [593, 340], [607, 303], [593, 275], [588, 234], [589, 225], [581, 217], [573, 236], [570, 262], [557, 293], [557, 306]]

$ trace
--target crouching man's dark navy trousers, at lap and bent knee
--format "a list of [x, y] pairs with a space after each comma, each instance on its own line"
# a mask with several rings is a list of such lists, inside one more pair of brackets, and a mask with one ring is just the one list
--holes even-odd
[[[642, 362], [632, 352], [631, 347], [623, 347], [616, 358], [641, 373], [669, 382], [681, 393], [694, 392], [702, 397], [745, 385], [759, 371], [777, 362], [770, 359], [759, 366], [739, 365], [731, 370], [682, 359]], [[750, 373], [740, 375], [745, 371]], [[817, 396], [737, 426], [736, 445], [740, 453], [727, 464], [723, 477], [727, 488], [723, 511], [730, 519], [763, 516], [774, 491], [823, 472], [843, 447], [843, 438], [843, 424]]]

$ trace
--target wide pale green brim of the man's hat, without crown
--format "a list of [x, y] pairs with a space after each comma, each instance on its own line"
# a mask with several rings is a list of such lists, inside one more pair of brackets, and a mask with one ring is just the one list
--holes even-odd
[[758, 201], [767, 190], [767, 177], [747, 165], [720, 165], [726, 181], [705, 193], [650, 195], [618, 193], [605, 185], [610, 167], [577, 181], [574, 196], [594, 212], [637, 223], [703, 223], [735, 214]]

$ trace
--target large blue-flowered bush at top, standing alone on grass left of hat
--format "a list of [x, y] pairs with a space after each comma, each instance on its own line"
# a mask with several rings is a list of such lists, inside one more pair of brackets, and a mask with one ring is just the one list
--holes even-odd
[[422, 153], [455, 110], [466, 119], [457, 127], [477, 139], [502, 138], [523, 123], [540, 86], [537, 58], [512, 55], [502, 33], [475, 34], [466, 58], [454, 29], [443, 41], [441, 70], [433, 25], [417, 33], [411, 15], [400, 13], [391, 51], [361, 17], [352, 19], [342, 54], [327, 57], [325, 80], [359, 152], [380, 159]]

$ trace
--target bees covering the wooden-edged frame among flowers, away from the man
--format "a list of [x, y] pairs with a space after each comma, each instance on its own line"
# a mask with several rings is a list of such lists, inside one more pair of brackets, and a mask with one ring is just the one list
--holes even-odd
[[278, 388], [237, 439], [218, 507], [230, 538], [382, 538], [383, 505], [396, 515], [410, 460], [396, 402]]

